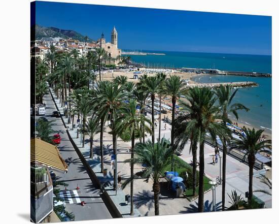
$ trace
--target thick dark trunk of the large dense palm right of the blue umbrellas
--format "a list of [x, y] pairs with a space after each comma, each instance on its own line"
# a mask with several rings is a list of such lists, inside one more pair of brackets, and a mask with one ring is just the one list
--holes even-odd
[[204, 174], [204, 141], [200, 142], [200, 144], [199, 144], [198, 212], [203, 212], [203, 210], [204, 210], [203, 174]]

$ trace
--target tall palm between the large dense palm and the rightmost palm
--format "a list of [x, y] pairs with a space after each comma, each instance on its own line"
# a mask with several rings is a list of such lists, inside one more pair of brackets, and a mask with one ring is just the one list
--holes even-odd
[[[215, 94], [217, 95], [219, 101], [219, 109], [222, 114], [222, 121], [224, 127], [226, 127], [227, 122], [231, 123], [231, 120], [228, 118], [228, 114], [234, 114], [235, 118], [238, 120], [237, 110], [246, 110], [249, 111], [247, 107], [242, 104], [235, 103], [232, 104], [232, 100], [238, 89], [232, 92], [232, 87], [230, 85], [215, 88]], [[221, 137], [221, 136], [220, 136]], [[226, 194], [226, 157], [227, 157], [227, 139], [222, 136], [223, 143], [223, 167], [222, 167], [222, 210], [225, 210], [225, 194]]]

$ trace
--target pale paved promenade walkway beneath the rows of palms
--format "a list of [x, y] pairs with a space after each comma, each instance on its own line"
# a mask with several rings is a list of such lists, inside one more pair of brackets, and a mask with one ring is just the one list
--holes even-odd
[[[62, 109], [61, 109], [62, 111]], [[150, 116], [150, 115], [148, 115]], [[64, 118], [65, 123], [67, 120]], [[76, 124], [75, 118], [75, 124]], [[161, 137], [165, 137], [166, 139], [170, 139], [170, 128], [169, 124], [166, 124], [166, 130], [164, 129], [165, 123], [162, 122], [162, 131]], [[71, 128], [72, 124], [68, 124]], [[158, 137], [158, 127], [155, 129], [155, 138]], [[113, 200], [115, 200], [119, 209], [123, 210], [123, 216], [129, 213], [129, 206], [124, 204], [124, 196], [130, 194], [130, 187], [129, 185], [126, 186], [123, 190], [118, 190], [118, 196], [113, 197], [115, 192], [112, 190], [112, 173], [111, 171], [111, 164], [110, 164], [110, 154], [113, 152], [112, 147], [112, 136], [108, 133], [110, 131], [109, 127], [106, 127], [106, 131], [104, 132], [104, 164], [105, 167], [108, 169], [108, 178], [103, 180], [102, 174], [100, 174], [100, 154], [99, 154], [99, 134], [94, 136], [94, 157], [93, 159], [89, 159], [89, 141], [86, 138], [86, 145], [84, 148], [81, 147], [81, 140], [80, 138], [77, 139], [77, 129], [69, 130], [71, 136], [75, 140], [76, 144], [78, 145], [79, 149], [83, 153], [83, 155], [87, 158], [87, 162], [92, 167], [92, 170], [96, 173], [96, 175], [104, 182], [107, 183], [107, 189], [111, 192]], [[148, 137], [151, 139], [151, 137]], [[127, 149], [131, 146], [131, 142], [124, 142], [122, 139], [118, 138], [117, 140], [117, 148], [118, 148], [118, 175], [122, 177], [124, 181], [125, 178], [129, 177], [130, 173], [130, 166], [124, 161], [127, 158], [130, 158], [130, 153]], [[217, 176], [219, 176], [219, 163], [216, 165], [212, 165], [212, 153], [214, 153], [214, 148], [208, 145], [205, 145], [205, 174], [207, 177], [215, 180]], [[191, 163], [192, 155], [189, 154], [189, 144], [187, 144], [183, 150], [183, 155], [181, 156], [187, 163]], [[141, 166], [135, 166], [134, 172], [141, 171]], [[236, 189], [239, 194], [242, 194], [245, 197], [245, 192], [248, 191], [248, 174], [249, 168], [247, 165], [236, 161], [236, 159], [227, 156], [227, 185], [226, 191], [227, 193], [231, 193], [231, 190]], [[163, 179], [162, 179], [163, 180]], [[254, 189], [265, 189], [266, 185], [261, 183], [260, 180], [254, 179]], [[217, 210], [220, 209], [221, 206], [221, 191], [222, 185], [217, 186], [216, 188], [216, 203], [217, 203]], [[264, 195], [263, 193], [255, 193], [257, 197], [265, 201], [266, 207], [271, 208], [271, 197]], [[226, 206], [230, 206], [228, 203], [229, 198], [226, 198]], [[174, 195], [171, 195], [170, 192], [161, 192], [160, 195], [160, 215], [167, 215], [167, 214], [183, 214], [183, 213], [190, 213], [197, 211], [197, 201], [189, 202], [186, 198], [175, 198]], [[205, 203], [205, 211], [212, 210], [212, 191], [205, 193], [204, 195], [204, 203]], [[154, 215], [154, 194], [152, 192], [152, 181], [147, 182], [146, 179], [137, 179], [134, 181], [134, 204], [135, 204], [135, 215], [142, 215], [142, 216], [150, 216]], [[138, 213], [137, 213], [138, 212]]]

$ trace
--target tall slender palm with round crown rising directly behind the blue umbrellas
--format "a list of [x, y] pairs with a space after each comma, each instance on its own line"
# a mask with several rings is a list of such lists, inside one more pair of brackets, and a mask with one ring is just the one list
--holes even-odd
[[[180, 80], [179, 76], [170, 76], [165, 82], [165, 89], [167, 94], [171, 95], [171, 103], [172, 103], [172, 111], [171, 111], [171, 146], [175, 142], [175, 111], [176, 111], [176, 103], [177, 99], [180, 97], [182, 92], [184, 91], [185, 84]], [[174, 149], [173, 149], [174, 150]], [[173, 157], [173, 155], [172, 155]], [[173, 165], [171, 165], [171, 170], [173, 169]]]

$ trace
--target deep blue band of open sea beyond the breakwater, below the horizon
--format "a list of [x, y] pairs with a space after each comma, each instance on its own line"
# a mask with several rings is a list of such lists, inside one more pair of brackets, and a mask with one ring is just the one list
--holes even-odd
[[130, 55], [135, 62], [164, 68], [200, 68], [271, 73], [271, 56], [171, 51], [143, 51], [166, 55]]

